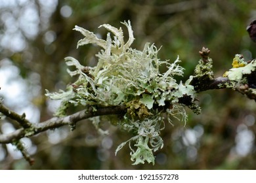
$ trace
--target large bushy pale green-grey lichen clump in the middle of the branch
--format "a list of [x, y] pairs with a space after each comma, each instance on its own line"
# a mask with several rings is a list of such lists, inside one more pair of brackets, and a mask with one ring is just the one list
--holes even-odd
[[[121, 143], [116, 153], [125, 145], [131, 148], [133, 164], [154, 164], [153, 152], [163, 147], [160, 131], [165, 127], [164, 118], [172, 122], [173, 117], [186, 122], [185, 106], [195, 107], [195, 91], [190, 85], [192, 77], [185, 83], [173, 78], [182, 76], [184, 69], [178, 64], [179, 56], [173, 63], [158, 59], [158, 48], [146, 43], [142, 51], [131, 48], [135, 40], [130, 22], [122, 22], [128, 29], [129, 39], [124, 41], [123, 30], [109, 24], [100, 25], [114, 34], [114, 40], [107, 34], [106, 41], [82, 27], [74, 30], [81, 32], [85, 38], [77, 43], [96, 44], [102, 48], [96, 58], [95, 67], [85, 67], [77, 59], [65, 58], [68, 66], [75, 66], [75, 71], [68, 73], [77, 75], [77, 81], [67, 86], [66, 91], [49, 93], [51, 99], [61, 99], [62, 104], [56, 111], [57, 116], [66, 115], [70, 106], [111, 107], [125, 105], [126, 114], [118, 122], [121, 129], [134, 136]], [[166, 65], [167, 71], [160, 72], [160, 65]], [[198, 110], [198, 107], [195, 107]], [[164, 115], [167, 114], [167, 115]], [[99, 123], [95, 118], [96, 124]]]

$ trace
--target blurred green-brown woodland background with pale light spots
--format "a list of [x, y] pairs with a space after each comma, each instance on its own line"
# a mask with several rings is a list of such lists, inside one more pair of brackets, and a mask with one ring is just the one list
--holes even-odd
[[[235, 54], [255, 58], [256, 44], [246, 32], [253, 19], [253, 0], [0, 0], [0, 96], [33, 123], [51, 118], [59, 101], [47, 99], [45, 89], [57, 92], [74, 81], [64, 58], [94, 66], [100, 50], [93, 45], [77, 49], [83, 36], [72, 30], [75, 25], [105, 39], [106, 30], [99, 25], [123, 27], [120, 22], [131, 20], [132, 47], [141, 50], [154, 42], [161, 47], [160, 59], [174, 61], [179, 55], [186, 71], [178, 79], [186, 80], [202, 46], [211, 50], [216, 77], [230, 69]], [[109, 136], [98, 135], [84, 120], [75, 131], [66, 126], [22, 139], [35, 159], [33, 166], [14, 146], [0, 144], [0, 169], [256, 169], [255, 101], [232, 90], [202, 92], [198, 99], [202, 114], [188, 109], [186, 125], [178, 120], [165, 125], [165, 146], [154, 154], [154, 166], [131, 165], [128, 146], [115, 156], [118, 144], [131, 135], [111, 125], [110, 116], [102, 119]], [[0, 121], [0, 133], [16, 127], [9, 118]]]

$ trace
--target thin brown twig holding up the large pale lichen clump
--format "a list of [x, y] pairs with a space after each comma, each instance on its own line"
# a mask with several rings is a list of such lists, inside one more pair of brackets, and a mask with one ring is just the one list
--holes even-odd
[[[233, 90], [236, 90], [237, 92], [246, 95], [249, 99], [256, 99], [256, 71], [253, 70], [251, 74], [243, 75], [244, 78], [246, 78], [247, 83], [245, 83], [244, 80], [242, 82], [229, 80], [228, 77], [224, 76], [215, 78], [212, 71], [213, 61], [211, 60], [211, 58], [208, 57], [209, 52], [210, 50], [208, 50], [207, 48], [202, 48], [202, 50], [200, 51], [200, 56], [202, 57], [202, 59], [200, 59], [198, 65], [196, 66], [194, 76], [192, 78], [192, 81], [190, 82], [190, 84], [194, 86], [194, 90], [196, 90], [196, 92], [203, 92], [206, 90], [232, 88]], [[195, 107], [194, 102], [192, 103], [192, 98], [188, 95], [183, 95], [183, 97], [179, 97], [179, 103], [191, 108], [195, 113], [196, 111], [199, 111], [199, 109]], [[29, 120], [26, 120], [25, 114], [19, 115], [14, 111], [9, 110], [9, 108], [1, 104], [1, 101], [0, 112], [20, 124], [20, 129], [16, 129], [12, 133], [0, 134], [0, 143], [14, 144], [15, 146], [17, 146], [18, 150], [22, 152], [24, 158], [29, 161], [30, 164], [32, 164], [33, 159], [30, 158], [30, 155], [28, 154], [28, 152], [26, 152], [26, 148], [24, 148], [24, 146], [20, 142], [20, 139], [22, 139], [23, 137], [32, 137], [33, 135], [36, 135], [43, 131], [47, 131], [47, 129], [54, 129], [63, 125], [70, 125], [71, 129], [74, 129], [77, 122], [95, 116], [109, 114], [124, 115], [127, 112], [127, 107], [125, 107], [125, 105], [118, 105], [112, 107], [87, 106], [84, 110], [81, 110], [74, 114], [70, 114], [69, 116], [53, 117], [49, 120], [46, 120], [45, 122], [41, 122], [38, 124], [32, 124]]]

